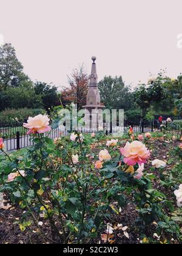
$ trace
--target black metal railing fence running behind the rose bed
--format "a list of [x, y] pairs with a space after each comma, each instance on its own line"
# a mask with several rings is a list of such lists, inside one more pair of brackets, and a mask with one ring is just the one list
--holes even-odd
[[[181, 126], [178, 123], [172, 122], [167, 123], [163, 122], [162, 126], [161, 123], [158, 121], [144, 121], [143, 123], [134, 123], [126, 121], [124, 122], [123, 126], [115, 126], [113, 127], [111, 124], [104, 124], [104, 127], [101, 129], [99, 128], [92, 128], [89, 129], [87, 127], [79, 127], [77, 129], [78, 132], [82, 133], [92, 133], [98, 132], [99, 130], [103, 130], [103, 132], [107, 134], [109, 133], [127, 133], [129, 127], [133, 128], [134, 133], [145, 133], [145, 132], [155, 132], [155, 131], [163, 131], [163, 129], [167, 129], [172, 133], [181, 133], [182, 130], [182, 123]], [[52, 130], [49, 133], [45, 133], [45, 136], [49, 138], [57, 138], [60, 135], [67, 136], [68, 132], [64, 126], [59, 127], [59, 129]], [[32, 145], [32, 140], [30, 139], [30, 135], [27, 135], [27, 129], [22, 127], [22, 124], [13, 124], [12, 126], [7, 126], [6, 124], [1, 124], [0, 127], [0, 138], [3, 138], [5, 150], [13, 151], [16, 149], [25, 148], [27, 146]]]

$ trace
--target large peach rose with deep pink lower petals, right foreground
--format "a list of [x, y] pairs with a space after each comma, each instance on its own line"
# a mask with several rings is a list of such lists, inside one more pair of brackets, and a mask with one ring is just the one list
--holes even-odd
[[120, 149], [121, 154], [124, 156], [124, 163], [127, 165], [141, 165], [146, 163], [146, 160], [150, 157], [150, 151], [141, 141], [127, 142], [124, 148]]

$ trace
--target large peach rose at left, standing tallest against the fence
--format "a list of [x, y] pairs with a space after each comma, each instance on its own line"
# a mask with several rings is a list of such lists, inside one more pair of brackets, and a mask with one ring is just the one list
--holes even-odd
[[29, 129], [29, 132], [27, 134], [35, 134], [35, 133], [44, 133], [49, 132], [51, 130], [49, 126], [50, 119], [46, 115], [38, 115], [35, 117], [29, 117], [27, 124], [24, 124], [23, 126], [27, 129]]

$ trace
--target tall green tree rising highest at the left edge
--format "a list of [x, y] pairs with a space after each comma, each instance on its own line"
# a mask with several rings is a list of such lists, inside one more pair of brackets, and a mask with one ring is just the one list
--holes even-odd
[[23, 72], [23, 66], [16, 57], [12, 44], [0, 46], [0, 84], [1, 87], [18, 87], [25, 80], [29, 80]]

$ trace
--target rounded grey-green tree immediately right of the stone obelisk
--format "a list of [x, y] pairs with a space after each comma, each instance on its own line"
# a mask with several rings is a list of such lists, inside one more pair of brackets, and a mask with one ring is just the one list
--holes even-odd
[[105, 76], [98, 84], [101, 101], [107, 108], [128, 110], [131, 105], [130, 88], [124, 85], [122, 77]]

